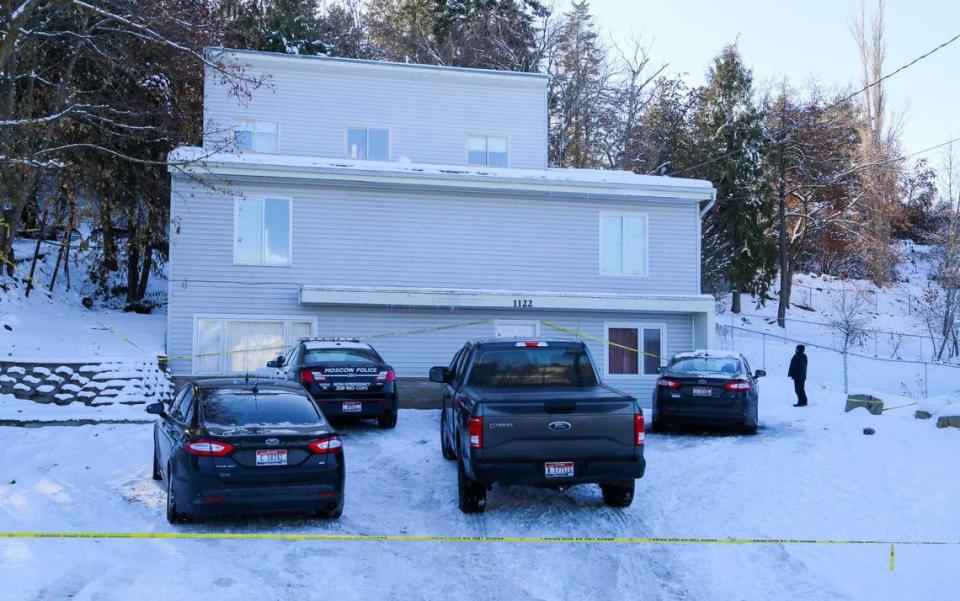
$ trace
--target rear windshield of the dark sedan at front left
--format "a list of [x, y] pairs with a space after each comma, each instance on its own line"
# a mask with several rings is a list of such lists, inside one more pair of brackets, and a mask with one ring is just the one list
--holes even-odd
[[203, 397], [203, 420], [209, 426], [322, 424], [306, 396], [291, 393], [216, 390]]

